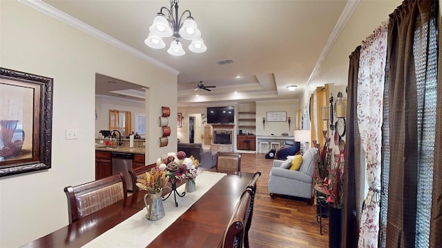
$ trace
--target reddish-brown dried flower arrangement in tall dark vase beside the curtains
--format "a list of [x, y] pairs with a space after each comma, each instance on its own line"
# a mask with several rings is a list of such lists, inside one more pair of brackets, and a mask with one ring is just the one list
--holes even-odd
[[344, 174], [344, 149], [340, 151], [336, 165], [329, 168], [329, 176], [325, 178], [323, 189], [327, 194], [327, 203], [336, 209], [343, 205], [343, 174]]

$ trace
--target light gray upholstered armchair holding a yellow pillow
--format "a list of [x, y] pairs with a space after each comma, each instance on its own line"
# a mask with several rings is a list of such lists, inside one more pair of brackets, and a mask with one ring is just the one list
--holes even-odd
[[283, 169], [280, 167], [281, 160], [274, 160], [269, 175], [269, 193], [285, 196], [296, 196], [310, 199], [313, 192], [314, 155], [318, 152], [316, 148], [308, 149], [302, 156], [302, 164], [299, 171]]

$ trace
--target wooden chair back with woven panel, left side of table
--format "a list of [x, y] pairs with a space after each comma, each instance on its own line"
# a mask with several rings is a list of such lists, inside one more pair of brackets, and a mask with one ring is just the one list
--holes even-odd
[[68, 198], [69, 223], [127, 198], [126, 179], [119, 172], [89, 183], [64, 188]]

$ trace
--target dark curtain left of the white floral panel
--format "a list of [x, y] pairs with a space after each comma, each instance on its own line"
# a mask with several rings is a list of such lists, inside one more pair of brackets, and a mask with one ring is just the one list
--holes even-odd
[[[361, 45], [352, 52], [349, 56], [349, 70], [348, 70], [348, 87], [347, 87], [347, 135], [345, 136], [345, 143], [352, 144], [345, 146], [345, 172], [344, 172], [344, 198], [343, 198], [343, 226], [341, 247], [356, 247], [358, 240], [359, 223], [356, 218], [356, 191], [360, 191], [360, 187], [356, 187], [356, 167], [360, 171], [359, 166], [359, 130], [358, 130], [358, 115], [356, 112], [357, 102], [357, 85], [358, 85], [358, 70], [359, 70], [359, 56], [361, 52]], [[359, 185], [358, 185], [359, 186]]]

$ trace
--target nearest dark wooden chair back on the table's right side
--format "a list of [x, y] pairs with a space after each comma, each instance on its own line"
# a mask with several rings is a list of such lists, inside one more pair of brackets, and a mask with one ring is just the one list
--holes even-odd
[[224, 231], [224, 237], [222, 240], [223, 248], [240, 248], [244, 246], [244, 229], [251, 218], [250, 206], [252, 198], [252, 190], [244, 189], [240, 200], [236, 204], [233, 215], [227, 225], [226, 231]]

